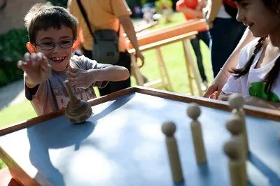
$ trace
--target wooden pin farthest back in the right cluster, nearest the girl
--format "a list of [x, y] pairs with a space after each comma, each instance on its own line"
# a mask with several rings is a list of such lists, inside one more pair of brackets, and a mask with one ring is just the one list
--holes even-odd
[[237, 115], [241, 118], [242, 121], [242, 131], [241, 135], [245, 145], [245, 153], [248, 154], [248, 136], [246, 129], [246, 120], [245, 120], [245, 111], [244, 111], [244, 97], [241, 94], [232, 94], [229, 99], [230, 106], [232, 107], [232, 115]]

